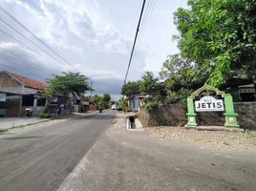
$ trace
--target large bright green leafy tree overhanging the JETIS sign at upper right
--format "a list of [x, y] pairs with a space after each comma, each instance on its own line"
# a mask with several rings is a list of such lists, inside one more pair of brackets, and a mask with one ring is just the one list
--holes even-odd
[[211, 85], [255, 79], [256, 1], [188, 0], [188, 6], [174, 18], [182, 57], [197, 63]]

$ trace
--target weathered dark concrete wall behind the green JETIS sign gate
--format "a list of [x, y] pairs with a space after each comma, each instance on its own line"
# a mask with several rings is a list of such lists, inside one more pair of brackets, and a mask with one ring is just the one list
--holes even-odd
[[[242, 128], [256, 129], [256, 102], [234, 103], [235, 112]], [[224, 125], [223, 112], [198, 112], [198, 125]], [[144, 108], [139, 110], [139, 121], [144, 127], [183, 126], [187, 122], [186, 109], [179, 104], [170, 104], [150, 113]]]

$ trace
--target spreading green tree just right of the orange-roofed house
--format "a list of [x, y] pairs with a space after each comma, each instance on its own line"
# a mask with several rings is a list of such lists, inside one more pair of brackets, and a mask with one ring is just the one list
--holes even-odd
[[92, 90], [88, 82], [88, 77], [79, 73], [62, 73], [54, 75], [52, 79], [47, 80], [47, 92], [51, 95], [68, 96], [75, 93], [78, 96], [86, 91]]

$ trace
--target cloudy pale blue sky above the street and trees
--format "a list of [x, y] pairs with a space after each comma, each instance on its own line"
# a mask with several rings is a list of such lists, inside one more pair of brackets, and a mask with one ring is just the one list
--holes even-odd
[[[90, 78], [93, 94], [118, 98], [142, 0], [0, 0], [0, 6], [1, 71], [42, 82], [78, 72]], [[128, 81], [146, 71], [158, 76], [166, 56], [179, 53], [172, 35], [178, 34], [173, 12], [180, 7], [186, 0], [146, 1]]]

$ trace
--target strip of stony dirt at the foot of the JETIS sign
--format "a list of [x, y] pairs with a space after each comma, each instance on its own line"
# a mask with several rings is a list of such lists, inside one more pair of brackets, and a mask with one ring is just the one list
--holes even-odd
[[256, 131], [224, 132], [199, 131], [181, 127], [150, 127], [145, 128], [150, 137], [155, 138], [182, 138], [213, 148], [227, 148], [231, 150], [256, 150]]

